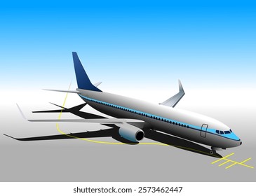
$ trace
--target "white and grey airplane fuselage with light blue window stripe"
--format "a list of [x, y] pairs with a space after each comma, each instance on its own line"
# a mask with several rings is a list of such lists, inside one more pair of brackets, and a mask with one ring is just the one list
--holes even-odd
[[159, 104], [151, 104], [107, 92], [77, 89], [79, 96], [97, 111], [116, 118], [133, 118], [146, 122], [142, 129], [159, 130], [216, 148], [240, 146], [241, 141], [231, 134], [217, 134], [216, 130], [229, 131], [218, 120]]

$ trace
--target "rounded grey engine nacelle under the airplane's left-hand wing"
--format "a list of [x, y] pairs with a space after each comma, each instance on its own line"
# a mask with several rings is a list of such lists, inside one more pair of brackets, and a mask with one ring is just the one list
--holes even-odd
[[119, 134], [124, 139], [129, 141], [138, 142], [144, 138], [144, 132], [140, 128], [133, 125], [124, 124], [119, 128]]

